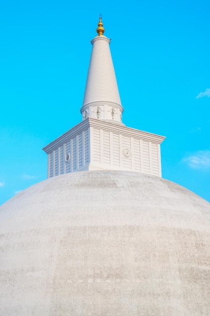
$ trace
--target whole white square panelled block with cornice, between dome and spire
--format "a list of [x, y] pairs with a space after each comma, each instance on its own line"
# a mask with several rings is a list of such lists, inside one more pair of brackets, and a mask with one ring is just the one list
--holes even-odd
[[43, 148], [48, 178], [82, 170], [135, 171], [161, 177], [165, 137], [88, 118]]

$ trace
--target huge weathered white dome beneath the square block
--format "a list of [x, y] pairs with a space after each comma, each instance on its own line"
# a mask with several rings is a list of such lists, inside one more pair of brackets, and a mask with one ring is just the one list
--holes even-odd
[[65, 174], [0, 207], [1, 315], [209, 315], [210, 204], [159, 177]]

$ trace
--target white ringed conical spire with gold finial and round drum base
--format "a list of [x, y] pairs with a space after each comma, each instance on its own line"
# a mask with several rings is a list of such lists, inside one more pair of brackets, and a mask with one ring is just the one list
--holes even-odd
[[99, 18], [98, 35], [91, 41], [93, 48], [81, 113], [88, 117], [121, 123], [121, 106], [115, 71], [109, 48], [110, 39]]

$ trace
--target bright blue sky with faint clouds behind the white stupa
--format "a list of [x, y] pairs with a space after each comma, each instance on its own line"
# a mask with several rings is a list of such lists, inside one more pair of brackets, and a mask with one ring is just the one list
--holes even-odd
[[163, 177], [210, 201], [210, 3], [2, 2], [0, 204], [46, 179], [42, 148], [81, 120], [99, 14], [123, 123], [166, 136]]

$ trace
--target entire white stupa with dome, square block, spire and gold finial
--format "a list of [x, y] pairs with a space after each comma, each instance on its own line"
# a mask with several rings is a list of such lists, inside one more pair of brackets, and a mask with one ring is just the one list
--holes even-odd
[[165, 137], [122, 123], [110, 39], [48, 179], [0, 207], [0, 314], [209, 315], [210, 203], [161, 177]]

